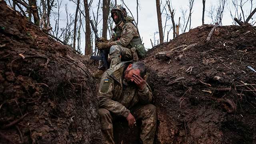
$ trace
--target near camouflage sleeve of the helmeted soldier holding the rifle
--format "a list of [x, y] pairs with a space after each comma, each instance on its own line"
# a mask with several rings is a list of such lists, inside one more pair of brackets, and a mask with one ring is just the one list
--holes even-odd
[[110, 46], [120, 45], [122, 47], [126, 47], [135, 36], [135, 26], [132, 23], [127, 23], [122, 28], [121, 38], [119, 40], [109, 42]]

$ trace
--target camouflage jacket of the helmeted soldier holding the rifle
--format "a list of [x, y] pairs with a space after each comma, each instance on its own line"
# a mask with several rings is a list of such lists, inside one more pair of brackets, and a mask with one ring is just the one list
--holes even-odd
[[131, 42], [141, 43], [138, 29], [132, 24], [132, 21], [134, 21], [132, 17], [126, 16], [120, 24], [115, 26], [114, 34], [110, 38], [110, 42], [108, 42], [109, 46], [120, 45], [131, 48]]

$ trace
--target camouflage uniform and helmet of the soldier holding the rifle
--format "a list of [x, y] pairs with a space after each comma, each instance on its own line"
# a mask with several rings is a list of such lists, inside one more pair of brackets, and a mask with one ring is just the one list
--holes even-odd
[[136, 47], [136, 51], [140, 51], [139, 57], [146, 56], [146, 50], [140, 40], [138, 28], [132, 23], [134, 19], [127, 16], [125, 8], [120, 5], [114, 6], [111, 13], [120, 11], [124, 18], [115, 26], [114, 34], [108, 42], [109, 54], [111, 58], [110, 68], [120, 61], [133, 60], [131, 48]]

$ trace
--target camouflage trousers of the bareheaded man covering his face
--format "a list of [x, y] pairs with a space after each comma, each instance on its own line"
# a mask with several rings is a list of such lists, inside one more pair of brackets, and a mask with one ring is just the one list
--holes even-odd
[[[156, 133], [156, 106], [146, 104], [131, 108], [130, 112], [136, 120], [141, 119], [140, 139], [143, 144], [153, 144]], [[105, 144], [114, 144], [112, 116], [105, 108], [99, 109], [100, 123]]]

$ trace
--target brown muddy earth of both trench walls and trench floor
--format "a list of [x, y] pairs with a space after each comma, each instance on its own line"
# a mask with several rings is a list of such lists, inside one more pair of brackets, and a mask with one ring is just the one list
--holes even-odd
[[[0, 143], [102, 144], [97, 64], [3, 1], [0, 15]], [[256, 27], [219, 26], [207, 44], [210, 30], [194, 28], [143, 59], [158, 112], [154, 144], [256, 143]], [[139, 133], [139, 121], [114, 123], [116, 144], [136, 144]]]

